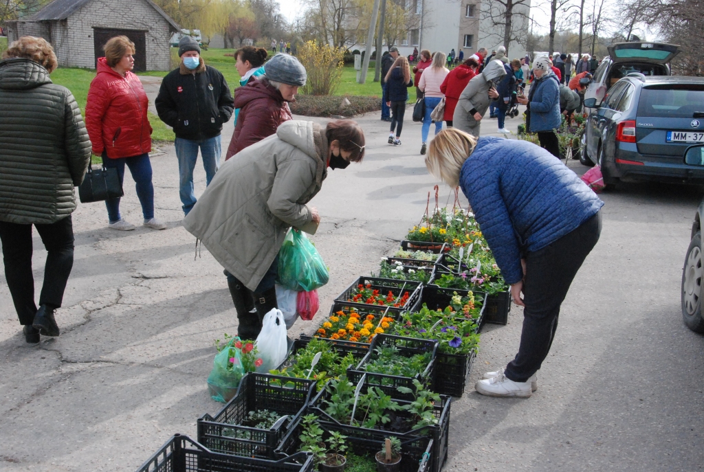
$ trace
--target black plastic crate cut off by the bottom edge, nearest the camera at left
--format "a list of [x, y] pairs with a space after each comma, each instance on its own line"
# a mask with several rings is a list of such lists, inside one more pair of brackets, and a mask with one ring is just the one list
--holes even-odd
[[298, 452], [277, 461], [213, 452], [175, 434], [137, 472], [313, 472], [313, 454]]

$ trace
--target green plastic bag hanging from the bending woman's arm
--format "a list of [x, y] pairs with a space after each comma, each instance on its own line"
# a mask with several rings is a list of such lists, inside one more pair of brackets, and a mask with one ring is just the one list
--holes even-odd
[[306, 234], [289, 229], [279, 250], [279, 285], [296, 292], [310, 292], [330, 279], [322, 257]]

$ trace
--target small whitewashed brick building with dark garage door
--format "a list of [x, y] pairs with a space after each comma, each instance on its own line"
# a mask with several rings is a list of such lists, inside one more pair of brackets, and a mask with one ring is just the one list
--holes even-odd
[[180, 27], [151, 0], [55, 0], [8, 22], [8, 39], [43, 37], [61, 67], [96, 67], [103, 45], [124, 34], [134, 42], [134, 69], [170, 70], [169, 38]]

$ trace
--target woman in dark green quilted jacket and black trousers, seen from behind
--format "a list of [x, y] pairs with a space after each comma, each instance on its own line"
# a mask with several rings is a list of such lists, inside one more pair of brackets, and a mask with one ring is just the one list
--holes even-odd
[[[58, 65], [43, 38], [13, 42], [0, 61], [0, 239], [15, 311], [27, 343], [58, 336], [54, 312], [73, 267], [74, 187], [91, 142], [73, 94], [51, 82]], [[39, 309], [34, 304], [32, 225], [46, 248]]]

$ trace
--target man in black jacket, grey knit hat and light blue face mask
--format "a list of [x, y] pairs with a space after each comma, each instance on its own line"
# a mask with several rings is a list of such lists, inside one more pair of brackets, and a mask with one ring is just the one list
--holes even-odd
[[196, 204], [193, 170], [198, 149], [207, 186], [220, 167], [220, 132], [222, 123], [232, 116], [234, 99], [220, 71], [203, 62], [195, 39], [182, 37], [178, 53], [181, 65], [164, 77], [154, 104], [161, 121], [176, 134], [180, 196], [183, 212], [188, 215]]

